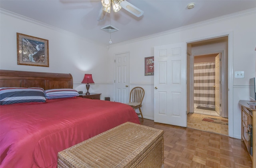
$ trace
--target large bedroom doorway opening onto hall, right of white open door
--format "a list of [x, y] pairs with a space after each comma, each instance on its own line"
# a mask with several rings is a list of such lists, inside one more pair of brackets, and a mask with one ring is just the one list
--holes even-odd
[[[219, 72], [215, 69], [215, 58], [217, 55], [222, 56], [221, 59], [217, 58], [217, 60], [220, 61], [218, 67]], [[214, 72], [214, 75], [211, 75], [209, 79], [198, 79], [198, 74], [194, 74], [195, 65], [204, 68], [208, 66], [211, 68], [211, 70], [208, 70], [208, 74], [210, 74], [210, 72]], [[228, 36], [187, 43], [187, 67], [188, 127], [193, 128], [193, 126], [203, 125], [202, 128], [199, 127], [196, 129], [228, 135], [228, 78], [225, 78], [228, 74]], [[200, 74], [204, 72], [198, 73]], [[215, 73], [220, 76], [216, 76]], [[219, 81], [216, 80], [215, 77], [216, 79], [219, 79]], [[206, 88], [208, 90], [200, 91], [202, 88]], [[218, 103], [218, 101], [220, 103]], [[207, 108], [210, 108], [212, 111]], [[216, 109], [218, 113], [216, 112]], [[192, 114], [194, 115], [193, 117]], [[214, 116], [209, 116], [209, 114]], [[212, 122], [206, 122], [205, 118], [220, 121], [225, 120], [227, 123], [224, 123], [225, 126], [214, 126]], [[207, 127], [216, 128], [208, 130]], [[221, 130], [222, 128], [224, 130]]]

